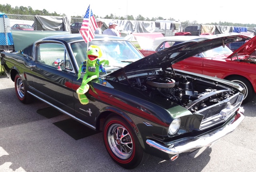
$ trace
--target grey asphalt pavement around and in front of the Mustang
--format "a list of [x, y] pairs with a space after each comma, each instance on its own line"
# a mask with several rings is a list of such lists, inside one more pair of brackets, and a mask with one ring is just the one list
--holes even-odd
[[256, 98], [245, 109], [238, 128], [197, 158], [170, 162], [150, 156], [133, 170], [115, 164], [104, 147], [102, 132], [75, 140], [54, 125], [66, 115], [46, 118], [36, 111], [39, 100], [22, 104], [14, 82], [0, 76], [0, 172], [253, 172], [256, 171]]

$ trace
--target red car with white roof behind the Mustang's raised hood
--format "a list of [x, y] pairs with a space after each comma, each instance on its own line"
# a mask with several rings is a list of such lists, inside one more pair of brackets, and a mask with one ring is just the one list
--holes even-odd
[[[228, 34], [238, 35], [238, 33]], [[172, 43], [167, 41], [168, 38], [166, 37], [155, 39], [155, 41], [158, 42], [158, 47], [153, 49], [151, 54], [158, 52], [161, 49], [174, 46], [177, 43], [182, 43], [182, 41], [180, 41], [180, 37], [182, 36], [179, 36], [179, 41], [176, 43], [174, 41], [174, 37], [170, 37], [170, 39], [172, 39]], [[183, 37], [184, 39], [188, 39], [190, 36]], [[209, 38], [211, 36], [207, 37]], [[163, 39], [164, 41], [161, 42], [160, 39]], [[178, 39], [178, 36], [176, 39]], [[192, 39], [195, 39], [195, 37], [192, 37]], [[204, 39], [204, 37], [198, 37], [197, 39]], [[245, 96], [243, 103], [248, 103], [252, 100], [256, 92], [256, 57], [253, 56], [255, 55], [256, 49], [256, 37], [250, 38], [245, 35], [240, 35], [240, 40], [237, 41], [246, 40], [249, 41], [244, 43], [244, 45], [242, 45], [234, 52], [232, 52], [227, 46], [221, 46], [187, 58], [183, 61], [175, 63], [172, 66], [175, 69], [205, 74], [208, 76], [215, 76], [217, 78], [236, 82], [244, 88], [243, 93]], [[144, 55], [150, 54], [150, 51], [148, 50], [140, 51]]]

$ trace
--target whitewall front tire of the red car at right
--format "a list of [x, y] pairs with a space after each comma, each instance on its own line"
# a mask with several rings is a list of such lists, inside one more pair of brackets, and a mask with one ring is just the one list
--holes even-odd
[[227, 80], [235, 82], [236, 84], [244, 88], [244, 91], [242, 92], [244, 94], [244, 100], [242, 104], [246, 104], [252, 100], [252, 98], [255, 95], [255, 92], [254, 89], [252, 88], [252, 84], [246, 78], [242, 76], [232, 76], [230, 78], [227, 78]]

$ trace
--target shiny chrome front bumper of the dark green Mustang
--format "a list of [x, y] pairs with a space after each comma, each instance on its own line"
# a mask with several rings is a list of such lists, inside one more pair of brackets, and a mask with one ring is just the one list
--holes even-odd
[[154, 147], [159, 151], [163, 151], [167, 154], [180, 154], [189, 150], [194, 150], [201, 147], [207, 147], [212, 145], [212, 143], [215, 143], [225, 135], [228, 135], [229, 133], [234, 131], [234, 129], [236, 129], [236, 127], [244, 119], [243, 111], [244, 109], [240, 107], [236, 115], [229, 121], [227, 125], [225, 125], [222, 128], [216, 129], [210, 133], [202, 135], [200, 137], [184, 138], [180, 141], [172, 143], [170, 146], [160, 144], [150, 139], [147, 139], [146, 143], [150, 145], [150, 147]]

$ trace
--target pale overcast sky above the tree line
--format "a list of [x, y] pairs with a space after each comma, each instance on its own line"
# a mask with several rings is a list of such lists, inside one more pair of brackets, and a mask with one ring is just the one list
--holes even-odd
[[256, 23], [255, 6], [252, 0], [8, 0], [2, 5], [31, 6], [33, 10], [47, 10], [50, 13], [68, 16], [83, 16], [90, 4], [93, 14], [104, 18], [106, 15], [132, 15], [134, 19], [140, 14], [144, 18], [174, 18], [198, 23], [219, 21], [232, 23]]

